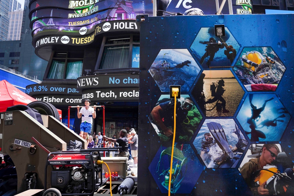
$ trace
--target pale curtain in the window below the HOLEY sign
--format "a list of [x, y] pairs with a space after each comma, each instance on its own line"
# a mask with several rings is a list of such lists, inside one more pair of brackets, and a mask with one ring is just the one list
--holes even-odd
[[129, 45], [106, 46], [101, 61], [101, 69], [128, 68]]

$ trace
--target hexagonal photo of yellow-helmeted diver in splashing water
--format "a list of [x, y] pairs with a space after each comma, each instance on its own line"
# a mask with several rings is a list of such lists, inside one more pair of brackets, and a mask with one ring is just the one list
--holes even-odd
[[246, 47], [233, 70], [248, 91], [275, 91], [285, 66], [271, 47]]

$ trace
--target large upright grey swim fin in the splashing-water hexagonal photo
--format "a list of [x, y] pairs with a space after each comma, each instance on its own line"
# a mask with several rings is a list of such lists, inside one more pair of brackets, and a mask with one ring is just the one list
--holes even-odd
[[226, 156], [230, 159], [234, 158], [235, 155], [230, 149], [227, 137], [225, 136], [225, 132], [220, 123], [211, 122], [206, 124], [214, 139], [216, 140], [216, 143], [218, 144], [220, 149], [223, 150], [223, 153], [225, 153]]

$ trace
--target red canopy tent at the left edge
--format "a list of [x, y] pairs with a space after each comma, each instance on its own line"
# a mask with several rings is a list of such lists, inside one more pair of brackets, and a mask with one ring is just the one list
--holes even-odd
[[[28, 105], [28, 103], [33, 101], [36, 101], [36, 99], [20, 91], [6, 80], [0, 81], [0, 112], [5, 112], [10, 106]], [[59, 116], [61, 116], [61, 110], [57, 109], [57, 111]]]

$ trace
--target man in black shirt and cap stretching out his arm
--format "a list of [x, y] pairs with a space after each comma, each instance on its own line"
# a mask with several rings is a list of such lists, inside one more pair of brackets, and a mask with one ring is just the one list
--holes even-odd
[[126, 137], [127, 131], [125, 129], [122, 129], [119, 132], [119, 137], [118, 139], [112, 139], [108, 138], [105, 135], [103, 135], [103, 139], [106, 141], [111, 141], [111, 142], [116, 142], [118, 143], [118, 147], [122, 147], [122, 149], [119, 149], [119, 154], [118, 157], [129, 157], [129, 152], [128, 152], [128, 139]]

